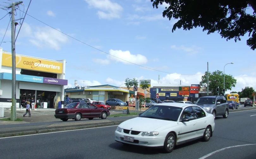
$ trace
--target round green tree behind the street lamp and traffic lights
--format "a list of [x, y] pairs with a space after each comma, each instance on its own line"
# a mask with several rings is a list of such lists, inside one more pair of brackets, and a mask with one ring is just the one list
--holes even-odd
[[[204, 76], [202, 76], [202, 81], [200, 82], [200, 86], [206, 87], [207, 86], [207, 71], [205, 72]], [[224, 74], [222, 71], [214, 71], [209, 72], [209, 91], [212, 92], [213, 95], [217, 95], [216, 88], [220, 88], [220, 95], [222, 94], [223, 89], [223, 82], [224, 82]], [[225, 89], [231, 90], [232, 87], [235, 87], [236, 79], [232, 75], [225, 74]]]

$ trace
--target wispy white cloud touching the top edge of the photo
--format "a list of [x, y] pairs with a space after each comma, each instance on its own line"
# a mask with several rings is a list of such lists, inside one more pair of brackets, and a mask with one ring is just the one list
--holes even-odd
[[122, 6], [110, 0], [85, 0], [90, 7], [99, 9], [97, 12], [100, 19], [120, 18], [123, 11]]

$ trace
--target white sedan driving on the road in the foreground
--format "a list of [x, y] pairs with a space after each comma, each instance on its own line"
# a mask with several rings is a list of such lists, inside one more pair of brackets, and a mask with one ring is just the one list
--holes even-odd
[[175, 145], [200, 138], [209, 141], [214, 127], [214, 116], [197, 105], [161, 103], [119, 124], [115, 140], [170, 153]]

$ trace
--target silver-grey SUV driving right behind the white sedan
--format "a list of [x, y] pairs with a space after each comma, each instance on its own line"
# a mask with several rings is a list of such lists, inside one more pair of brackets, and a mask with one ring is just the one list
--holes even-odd
[[223, 95], [217, 96], [203, 96], [200, 97], [195, 105], [203, 108], [207, 113], [210, 113], [214, 116], [223, 116], [223, 118], [227, 118], [229, 115], [229, 103]]

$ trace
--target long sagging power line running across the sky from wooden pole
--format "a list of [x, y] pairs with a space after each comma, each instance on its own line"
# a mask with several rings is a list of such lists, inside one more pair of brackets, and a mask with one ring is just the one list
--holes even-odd
[[[20, 9], [19, 9], [19, 10], [20, 10]], [[21, 11], [21, 12], [22, 12], [22, 11]], [[29, 15], [29, 14], [27, 14], [27, 15], [28, 15], [28, 16], [30, 16], [30, 17], [32, 17], [32, 18], [34, 18], [35, 20], [38, 20], [38, 19], [36, 19], [35, 17], [33, 17], [33, 16]], [[42, 22], [41, 20], [38, 20], [38, 21], [40, 21], [41, 23], [45, 24], [46, 26], [49, 26], [48, 24], [46, 24], [46, 23]], [[54, 28], [54, 27], [52, 27], [52, 26], [49, 26], [49, 27], [51, 27], [52, 29], [55, 29], [55, 28]], [[56, 30], [56, 31], [59, 31], [58, 29], [55, 29], [55, 30]], [[65, 35], [66, 35], [66, 36], [68, 36], [68, 37], [71, 37], [70, 35], [68, 35], [68, 34], [66, 34], [66, 33], [64, 33], [64, 32], [62, 32], [62, 31], [59, 31], [59, 32], [61, 32], [62, 34], [65, 34]], [[79, 41], [80, 43], [83, 43], [83, 44], [85, 44], [85, 45], [87, 45], [87, 46], [89, 46], [89, 47], [91, 47], [91, 48], [94, 48], [93, 46], [91, 46], [91, 45], [89, 45], [89, 44], [87, 44], [87, 43], [84, 43], [84, 42], [82, 42], [82, 41], [80, 41], [80, 40], [78, 40], [78, 39], [76, 39], [76, 38], [74, 38], [74, 37], [71, 37], [71, 38], [72, 38], [72, 39], [75, 39], [76, 41]], [[100, 49], [98, 49], [98, 48], [94, 48], [94, 49], [99, 50], [99, 51], [101, 51], [101, 52], [103, 52], [103, 53], [105, 53], [105, 54], [108, 54], [108, 53], [106, 53], [105, 51], [102, 51], [102, 50], [100, 50]], [[143, 67], [143, 68], [147, 68], [147, 69], [154, 70], [154, 71], [159, 71], [159, 70], [155, 70], [155, 69], [152, 69], [152, 68], [148, 68], [148, 67], [145, 67], [145, 66], [142, 66], [142, 65], [138, 65], [138, 64], [132, 63], [132, 62], [130, 62], [130, 61], [127, 61], [127, 60], [121, 59], [121, 58], [116, 57], [116, 56], [111, 55], [111, 54], [108, 54], [108, 55], [113, 56], [113, 57], [115, 57], [115, 58], [118, 58], [118, 59], [120, 59], [120, 60], [123, 60], [123, 61], [129, 62], [129, 63], [131, 63], [131, 64], [134, 64], [134, 65], [137, 65], [137, 66]], [[192, 74], [178, 74], [178, 73], [170, 73], [170, 72], [165, 72], [165, 71], [159, 71], [159, 72], [169, 73], [169, 74], [175, 74], [175, 75], [192, 75]], [[204, 74], [193, 74], [193, 75], [204, 75]]]

